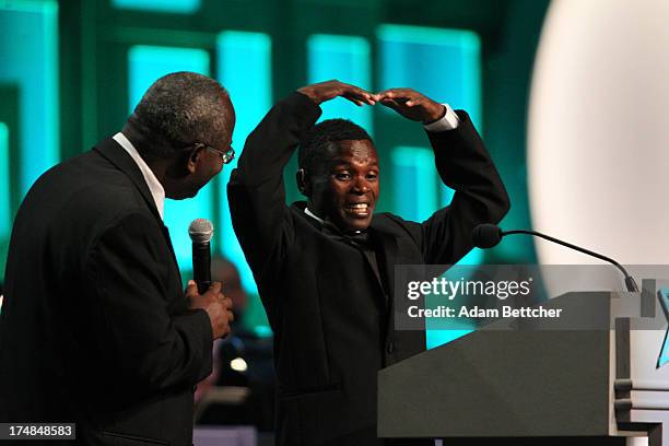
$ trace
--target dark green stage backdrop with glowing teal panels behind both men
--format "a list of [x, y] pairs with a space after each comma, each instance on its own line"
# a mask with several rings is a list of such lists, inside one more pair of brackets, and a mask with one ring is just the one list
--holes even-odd
[[[340, 79], [372, 91], [411, 86], [465, 108], [512, 197], [508, 227], [529, 227], [525, 122], [531, 66], [548, 0], [0, 0], [0, 267], [11, 221], [33, 181], [120, 129], [145, 89], [179, 70], [219, 79], [237, 113], [235, 150], [275, 99]], [[324, 118], [365, 127], [379, 149], [379, 211], [424, 220], [453, 191], [433, 167], [419, 125], [343, 99]], [[293, 160], [289, 200], [300, 199]], [[240, 270], [245, 324], [267, 332], [257, 289], [230, 223], [234, 164], [193, 200], [167, 200], [179, 267], [190, 275], [187, 226], [208, 218], [214, 250]], [[529, 240], [473, 250], [462, 262], [532, 262]], [[466, 328], [465, 328], [466, 329]], [[465, 332], [465, 331], [462, 331]], [[429, 332], [431, 347], [462, 332]]]

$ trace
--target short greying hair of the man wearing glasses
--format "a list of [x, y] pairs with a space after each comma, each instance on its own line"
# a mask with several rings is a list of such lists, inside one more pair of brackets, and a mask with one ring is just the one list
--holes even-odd
[[145, 142], [138, 151], [166, 159], [196, 142], [215, 144], [232, 131], [228, 101], [223, 85], [206, 75], [179, 71], [160, 78], [128, 119]]

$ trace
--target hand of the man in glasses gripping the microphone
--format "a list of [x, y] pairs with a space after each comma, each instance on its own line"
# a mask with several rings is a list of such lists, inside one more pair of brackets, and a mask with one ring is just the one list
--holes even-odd
[[212, 282], [204, 294], [198, 294], [198, 285], [192, 280], [188, 281], [186, 298], [191, 308], [201, 308], [207, 312], [213, 339], [223, 338], [230, 333], [230, 322], [234, 320], [232, 300], [221, 293], [221, 282]]

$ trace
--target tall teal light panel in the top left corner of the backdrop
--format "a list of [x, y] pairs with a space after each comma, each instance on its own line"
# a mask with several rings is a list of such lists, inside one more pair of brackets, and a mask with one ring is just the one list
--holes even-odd
[[0, 82], [20, 86], [23, 196], [60, 160], [56, 1], [0, 1]]

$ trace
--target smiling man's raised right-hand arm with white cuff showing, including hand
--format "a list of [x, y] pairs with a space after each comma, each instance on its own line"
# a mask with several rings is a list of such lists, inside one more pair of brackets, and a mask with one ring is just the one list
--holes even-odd
[[415, 235], [426, 263], [455, 263], [473, 247], [473, 227], [497, 223], [508, 211], [500, 174], [467, 113], [456, 115], [411, 89], [388, 90], [377, 98], [426, 126], [439, 177], [456, 193], [450, 206], [423, 222]]

